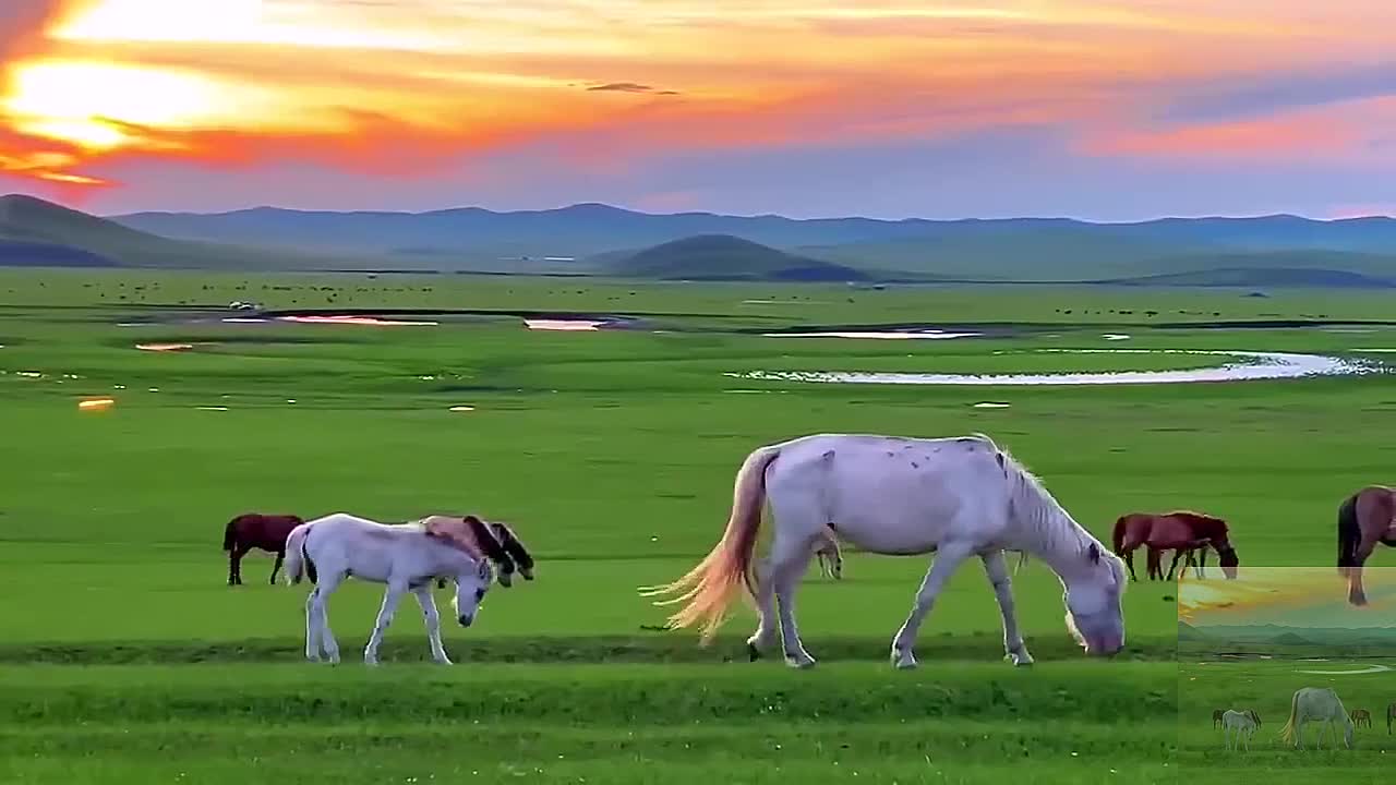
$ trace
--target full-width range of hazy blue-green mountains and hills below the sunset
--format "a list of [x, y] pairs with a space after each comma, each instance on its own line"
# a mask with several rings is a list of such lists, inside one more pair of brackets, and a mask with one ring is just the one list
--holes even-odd
[[1396, 219], [966, 221], [260, 207], [99, 218], [0, 197], [0, 265], [1396, 288]]

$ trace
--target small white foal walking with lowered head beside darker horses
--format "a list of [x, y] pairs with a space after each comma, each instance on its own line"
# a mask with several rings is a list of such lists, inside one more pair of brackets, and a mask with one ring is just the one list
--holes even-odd
[[[493, 536], [476, 532], [476, 536]], [[483, 556], [472, 555], [441, 536], [433, 536], [417, 522], [380, 524], [346, 513], [306, 521], [286, 538], [286, 582], [299, 584], [307, 573], [315, 589], [306, 599], [306, 659], [320, 661], [324, 650], [329, 662], [339, 662], [339, 644], [329, 631], [325, 601], [349, 575], [387, 584], [378, 620], [363, 650], [363, 661], [378, 663], [383, 633], [392, 622], [402, 595], [412, 592], [422, 606], [431, 641], [431, 659], [450, 665], [441, 645], [441, 619], [431, 596], [431, 581], [438, 575], [455, 580], [451, 608], [462, 627], [469, 627], [480, 601], [494, 578], [494, 567]], [[317, 575], [318, 574], [318, 575]]]

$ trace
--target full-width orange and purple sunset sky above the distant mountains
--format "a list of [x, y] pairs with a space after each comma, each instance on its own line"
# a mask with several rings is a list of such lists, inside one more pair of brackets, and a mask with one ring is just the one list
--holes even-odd
[[1396, 215], [1390, 0], [3, 0], [101, 214]]

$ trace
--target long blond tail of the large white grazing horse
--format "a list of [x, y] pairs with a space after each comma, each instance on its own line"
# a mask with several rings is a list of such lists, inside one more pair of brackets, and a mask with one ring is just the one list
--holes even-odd
[[732, 514], [718, 545], [677, 581], [660, 587], [642, 587], [642, 596], [671, 595], [655, 605], [685, 602], [669, 617], [670, 629], [690, 627], [702, 622], [702, 644], [706, 645], [727, 617], [727, 606], [744, 584], [747, 596], [755, 598], [757, 587], [751, 575], [751, 555], [761, 529], [761, 510], [766, 499], [766, 467], [780, 454], [782, 446], [761, 447], [747, 455], [733, 483]]

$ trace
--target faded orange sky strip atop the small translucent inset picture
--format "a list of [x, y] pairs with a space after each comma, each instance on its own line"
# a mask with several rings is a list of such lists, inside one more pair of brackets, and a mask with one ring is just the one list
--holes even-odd
[[1188, 574], [1178, 584], [1178, 617], [1198, 627], [1390, 627], [1396, 567], [1365, 567], [1362, 589], [1368, 605], [1349, 605], [1347, 581], [1336, 567], [1241, 567], [1235, 580]]

